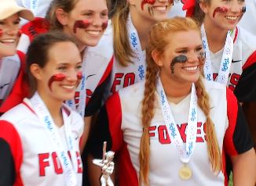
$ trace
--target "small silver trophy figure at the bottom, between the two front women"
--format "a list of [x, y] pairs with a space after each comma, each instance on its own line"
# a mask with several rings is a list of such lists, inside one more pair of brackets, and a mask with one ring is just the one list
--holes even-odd
[[101, 186], [114, 186], [110, 175], [114, 171], [115, 163], [113, 163], [115, 152], [106, 152], [107, 142], [104, 141], [102, 159], [93, 159], [93, 164], [101, 166]]

